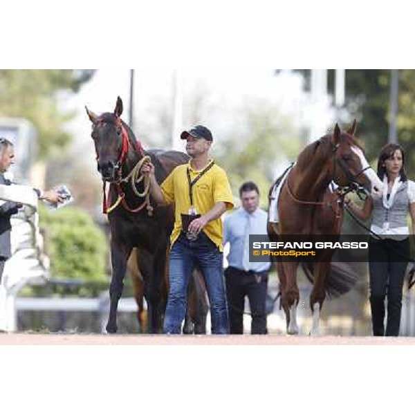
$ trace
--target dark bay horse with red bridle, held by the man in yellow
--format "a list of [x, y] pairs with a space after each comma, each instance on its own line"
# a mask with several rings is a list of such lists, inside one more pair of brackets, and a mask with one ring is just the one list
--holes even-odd
[[[167, 302], [167, 266], [169, 235], [174, 224], [173, 207], [151, 205], [148, 183], [140, 176], [140, 167], [150, 158], [156, 167], [156, 179], [162, 183], [177, 165], [187, 163], [189, 157], [180, 151], [145, 151], [133, 131], [124, 123], [122, 100], [118, 97], [113, 113], [97, 116], [86, 108], [92, 122], [91, 136], [94, 141], [98, 171], [103, 182], [103, 210], [108, 214], [111, 234], [112, 276], [109, 288], [110, 311], [107, 332], [116, 333], [118, 301], [122, 295], [127, 261], [134, 247], [140, 276], [133, 279], [136, 286], [140, 317], [140, 293], [147, 302], [147, 329], [149, 333], [160, 332]], [[106, 187], [109, 183], [107, 196]], [[131, 259], [132, 261], [134, 259]], [[142, 277], [143, 286], [140, 286]], [[194, 278], [198, 284], [199, 278]], [[192, 283], [192, 282], [191, 282]], [[193, 293], [200, 291], [194, 290]], [[203, 298], [200, 298], [203, 301]], [[141, 299], [142, 301], [142, 299]], [[202, 307], [203, 308], [203, 307]], [[205, 309], [205, 308], [204, 308]], [[207, 309], [205, 309], [205, 315]], [[195, 326], [197, 333], [205, 332], [205, 315]], [[142, 320], [142, 319], [141, 319]]]

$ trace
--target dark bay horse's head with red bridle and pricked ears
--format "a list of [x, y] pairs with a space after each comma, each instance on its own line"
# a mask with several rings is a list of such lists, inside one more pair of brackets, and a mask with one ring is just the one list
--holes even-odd
[[88, 108], [85, 109], [92, 122], [91, 136], [97, 154], [98, 172], [104, 181], [118, 181], [129, 151], [128, 131], [120, 118], [122, 100], [118, 97], [113, 113], [97, 116]]

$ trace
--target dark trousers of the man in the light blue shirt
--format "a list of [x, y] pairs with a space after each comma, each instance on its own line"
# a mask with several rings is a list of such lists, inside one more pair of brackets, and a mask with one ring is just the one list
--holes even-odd
[[232, 266], [225, 270], [230, 334], [243, 333], [243, 305], [248, 295], [252, 316], [251, 334], [266, 334], [268, 272], [253, 273]]

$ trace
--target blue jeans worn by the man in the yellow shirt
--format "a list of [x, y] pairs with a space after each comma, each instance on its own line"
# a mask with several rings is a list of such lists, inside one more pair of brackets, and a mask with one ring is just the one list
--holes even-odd
[[187, 286], [196, 265], [203, 273], [208, 290], [212, 333], [228, 334], [228, 307], [222, 277], [223, 254], [203, 232], [196, 241], [189, 241], [181, 234], [170, 251], [170, 288], [163, 332], [181, 333], [186, 313]]

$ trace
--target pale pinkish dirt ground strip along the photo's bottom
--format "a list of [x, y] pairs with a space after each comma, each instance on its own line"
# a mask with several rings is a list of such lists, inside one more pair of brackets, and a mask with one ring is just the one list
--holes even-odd
[[111, 345], [189, 345], [189, 346], [273, 346], [273, 345], [415, 345], [415, 338], [374, 338], [305, 335], [80, 335], [0, 333], [0, 345], [53, 345], [53, 346], [111, 346]]

